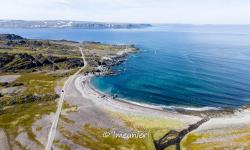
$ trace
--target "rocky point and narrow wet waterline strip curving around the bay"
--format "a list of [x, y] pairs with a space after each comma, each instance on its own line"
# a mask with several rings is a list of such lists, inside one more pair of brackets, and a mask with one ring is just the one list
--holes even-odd
[[[132, 45], [134, 47], [134, 45]], [[107, 93], [104, 93], [100, 90], [97, 89], [92, 83], [91, 80], [95, 77], [98, 76], [110, 76], [110, 75], [116, 75], [119, 72], [114, 71], [112, 67], [116, 65], [120, 65], [124, 61], [126, 61], [126, 57], [128, 55], [134, 55], [137, 51], [139, 51], [139, 48], [134, 47], [134, 51], [121, 51], [117, 53], [116, 55], [112, 57], [105, 57], [106, 62], [99, 66], [99, 69], [95, 72], [91, 72], [89, 76], [86, 78], [86, 86], [89, 89], [92, 89], [92, 92], [95, 92], [98, 94], [100, 97], [105, 97], [106, 99], [110, 99], [112, 101], [119, 101], [121, 103], [129, 103], [131, 105], [137, 105], [140, 107], [145, 107], [145, 108], [150, 108], [150, 109], [155, 109], [155, 110], [161, 110], [161, 111], [168, 111], [168, 112], [178, 112], [182, 114], [192, 114], [192, 115], [197, 115], [200, 116], [202, 114], [206, 114], [208, 116], [221, 116], [221, 115], [228, 115], [228, 114], [233, 114], [235, 111], [245, 109], [245, 106], [241, 106], [239, 108], [223, 108], [223, 107], [209, 107], [209, 106], [204, 106], [204, 107], [195, 107], [195, 106], [166, 106], [166, 105], [157, 105], [157, 104], [150, 104], [150, 103], [143, 103], [143, 102], [135, 102], [133, 100], [129, 99], [124, 99], [117, 97], [116, 94], [114, 95], [109, 95]], [[246, 108], [247, 109], [247, 108]]]

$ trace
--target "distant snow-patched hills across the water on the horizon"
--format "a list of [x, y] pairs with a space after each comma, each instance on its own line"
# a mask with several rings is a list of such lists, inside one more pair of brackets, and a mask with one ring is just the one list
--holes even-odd
[[100, 23], [70, 20], [0, 20], [0, 28], [79, 28], [79, 29], [134, 29], [150, 27], [151, 24]]

